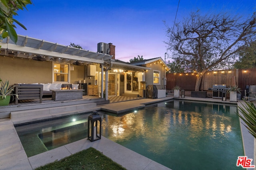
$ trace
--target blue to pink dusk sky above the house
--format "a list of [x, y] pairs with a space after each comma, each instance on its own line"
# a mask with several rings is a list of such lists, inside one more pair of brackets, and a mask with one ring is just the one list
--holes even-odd
[[[52, 43], [79, 44], [97, 52], [100, 42], [116, 46], [116, 59], [128, 62], [166, 53], [166, 27], [172, 27], [179, 0], [33, 0], [27, 10], [14, 18], [19, 35], [28, 35]], [[248, 17], [256, 11], [256, 0], [180, 0], [176, 22], [190, 12], [227, 12]], [[169, 51], [168, 51], [169, 52]], [[166, 59], [166, 62], [170, 59]]]

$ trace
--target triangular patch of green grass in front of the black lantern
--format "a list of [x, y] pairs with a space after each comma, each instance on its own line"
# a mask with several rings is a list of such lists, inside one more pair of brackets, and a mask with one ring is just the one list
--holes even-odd
[[60, 161], [40, 166], [35, 170], [126, 170], [98, 150], [90, 147]]

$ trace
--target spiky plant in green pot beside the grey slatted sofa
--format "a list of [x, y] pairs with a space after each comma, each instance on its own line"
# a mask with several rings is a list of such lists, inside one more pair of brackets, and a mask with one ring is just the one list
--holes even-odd
[[0, 79], [0, 106], [7, 106], [10, 103], [10, 97], [12, 95], [17, 96], [17, 94], [12, 94], [14, 91], [14, 87], [9, 88], [9, 80], [6, 80], [5, 83], [2, 83]]

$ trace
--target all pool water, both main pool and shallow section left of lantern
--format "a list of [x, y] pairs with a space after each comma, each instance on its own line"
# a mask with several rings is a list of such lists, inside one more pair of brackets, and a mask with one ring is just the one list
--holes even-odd
[[[121, 116], [100, 113], [102, 136], [173, 170], [242, 169], [236, 166], [238, 156], [244, 155], [236, 111], [234, 105], [172, 100]], [[16, 130], [32, 156], [86, 138], [88, 115]]]

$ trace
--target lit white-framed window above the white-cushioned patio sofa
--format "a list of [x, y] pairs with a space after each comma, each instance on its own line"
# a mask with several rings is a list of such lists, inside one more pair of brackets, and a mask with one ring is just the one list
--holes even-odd
[[54, 63], [54, 82], [69, 82], [69, 64]]

